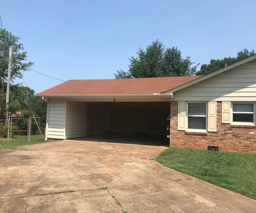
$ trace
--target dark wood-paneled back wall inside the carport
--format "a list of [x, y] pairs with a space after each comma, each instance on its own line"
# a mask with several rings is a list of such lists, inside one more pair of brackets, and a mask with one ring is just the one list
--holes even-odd
[[[169, 103], [167, 103], [169, 106]], [[108, 132], [118, 134], [167, 135], [166, 103], [109, 103]], [[154, 107], [152, 107], [154, 106]]]

